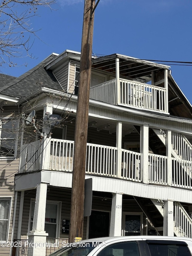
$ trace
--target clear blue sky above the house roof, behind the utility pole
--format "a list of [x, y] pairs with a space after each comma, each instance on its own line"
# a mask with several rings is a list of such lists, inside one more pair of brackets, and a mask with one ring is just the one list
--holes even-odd
[[[39, 8], [30, 21], [37, 38], [30, 53], [35, 57], [16, 59], [27, 67], [1, 68], [1, 72], [19, 76], [51, 53], [81, 50], [84, 0], [58, 0], [50, 10]], [[57, 9], [57, 10], [56, 10]], [[120, 53], [139, 59], [192, 61], [191, 0], [100, 0], [95, 10], [93, 53]], [[190, 103], [192, 66], [171, 66], [173, 78]]]

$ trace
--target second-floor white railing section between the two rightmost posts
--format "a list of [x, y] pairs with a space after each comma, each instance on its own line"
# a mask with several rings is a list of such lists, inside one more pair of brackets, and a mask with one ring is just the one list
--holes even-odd
[[149, 182], [168, 184], [167, 156], [149, 154]]

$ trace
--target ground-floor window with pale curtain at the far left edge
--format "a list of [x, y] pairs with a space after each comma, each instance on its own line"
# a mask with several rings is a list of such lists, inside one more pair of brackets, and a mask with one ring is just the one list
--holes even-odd
[[0, 240], [7, 241], [9, 230], [11, 198], [0, 198]]

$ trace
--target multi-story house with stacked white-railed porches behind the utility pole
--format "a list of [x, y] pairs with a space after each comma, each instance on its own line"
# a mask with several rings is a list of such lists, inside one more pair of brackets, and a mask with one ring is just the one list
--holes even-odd
[[[48, 255], [67, 242], [79, 64], [66, 50], [18, 78], [2, 75], [0, 240], [19, 244], [2, 255]], [[192, 106], [170, 67], [93, 58], [88, 120], [83, 239], [192, 237]]]

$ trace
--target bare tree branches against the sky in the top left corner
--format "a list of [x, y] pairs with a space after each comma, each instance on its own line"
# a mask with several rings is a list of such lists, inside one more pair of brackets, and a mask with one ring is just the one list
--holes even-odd
[[[38, 16], [38, 7], [49, 7], [56, 0], [3, 0], [0, 2], [0, 65], [16, 66], [13, 58], [29, 54], [37, 37], [32, 28], [32, 18]], [[40, 30], [41, 28], [39, 28]], [[33, 35], [33, 37], [31, 37]], [[40, 39], [40, 38], [39, 38]], [[40, 39], [41, 40], [41, 39]]]

